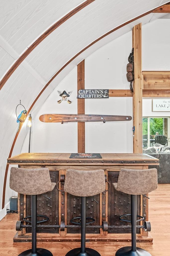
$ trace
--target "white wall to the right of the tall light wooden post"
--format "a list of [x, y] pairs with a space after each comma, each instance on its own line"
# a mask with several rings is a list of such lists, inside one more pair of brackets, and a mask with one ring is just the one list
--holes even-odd
[[[170, 19], [142, 26], [142, 70], [170, 70]], [[169, 95], [170, 97], [170, 95]], [[170, 112], [152, 112], [152, 99], [143, 99], [143, 117], [169, 117]]]

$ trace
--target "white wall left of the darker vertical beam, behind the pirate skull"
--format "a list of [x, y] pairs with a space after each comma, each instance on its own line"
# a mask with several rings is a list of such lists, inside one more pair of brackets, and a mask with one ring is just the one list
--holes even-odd
[[[58, 91], [72, 91], [68, 102], [57, 103], [61, 99]], [[77, 68], [56, 87], [41, 107], [34, 119], [34, 127], [31, 133], [30, 152], [77, 152], [77, 123], [44, 123], [39, 120], [42, 114], [77, 114]], [[29, 145], [29, 136], [25, 139], [22, 152]], [[27, 149], [28, 150], [28, 149]], [[26, 152], [28, 152], [26, 150]]]

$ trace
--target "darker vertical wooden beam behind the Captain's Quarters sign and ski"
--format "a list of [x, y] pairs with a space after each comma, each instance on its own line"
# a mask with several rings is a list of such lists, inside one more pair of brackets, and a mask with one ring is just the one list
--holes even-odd
[[[77, 65], [77, 90], [84, 89], [84, 60]], [[77, 114], [85, 114], [85, 99], [77, 99]], [[78, 122], [78, 153], [85, 153], [85, 122]]]

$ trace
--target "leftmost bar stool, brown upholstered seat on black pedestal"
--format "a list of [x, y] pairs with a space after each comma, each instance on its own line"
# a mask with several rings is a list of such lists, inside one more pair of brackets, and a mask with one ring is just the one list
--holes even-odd
[[[18, 256], [53, 256], [42, 248], [37, 248], [37, 195], [52, 191], [56, 183], [51, 182], [48, 168], [23, 169], [12, 167], [10, 188], [14, 191], [31, 195], [32, 249], [23, 251]], [[41, 215], [42, 216], [42, 215]]]

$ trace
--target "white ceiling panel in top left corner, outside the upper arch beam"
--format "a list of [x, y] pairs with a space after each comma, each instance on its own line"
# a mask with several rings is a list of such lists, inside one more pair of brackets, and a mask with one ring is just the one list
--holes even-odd
[[53, 23], [84, 1], [36, 0], [18, 1], [18, 4], [15, 1], [9, 2], [13, 5], [9, 5], [8, 18], [3, 15], [2, 9], [2, 13], [0, 12], [2, 15], [0, 34], [17, 53], [21, 54]]

